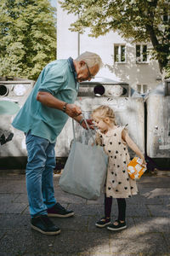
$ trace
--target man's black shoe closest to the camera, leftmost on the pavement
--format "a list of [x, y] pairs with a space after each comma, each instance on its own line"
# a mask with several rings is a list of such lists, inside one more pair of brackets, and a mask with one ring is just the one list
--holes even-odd
[[31, 218], [31, 228], [45, 235], [58, 235], [61, 231], [54, 225], [47, 215]]

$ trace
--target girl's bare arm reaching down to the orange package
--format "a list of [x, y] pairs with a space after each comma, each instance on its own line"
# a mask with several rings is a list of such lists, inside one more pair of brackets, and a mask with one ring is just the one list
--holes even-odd
[[145, 164], [144, 154], [142, 154], [142, 152], [140, 151], [138, 146], [133, 142], [131, 137], [128, 136], [127, 131], [125, 129], [123, 129], [122, 131], [122, 139], [127, 143], [128, 147], [133, 149], [133, 151], [139, 156], [139, 158], [143, 160], [143, 164]]

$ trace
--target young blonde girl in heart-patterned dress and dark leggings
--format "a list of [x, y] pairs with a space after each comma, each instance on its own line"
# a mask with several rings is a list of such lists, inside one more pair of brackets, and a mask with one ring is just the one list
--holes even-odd
[[[101, 218], [96, 226], [108, 230], [126, 229], [126, 201], [125, 198], [138, 193], [136, 182], [128, 176], [127, 164], [130, 157], [127, 145], [143, 160], [144, 155], [133, 140], [128, 136], [125, 126], [117, 126], [115, 114], [108, 106], [100, 106], [92, 113], [95, 125], [99, 128], [96, 133], [96, 144], [103, 146], [109, 155], [107, 177], [105, 183], [105, 217]], [[112, 198], [118, 204], [118, 218], [111, 224]]]

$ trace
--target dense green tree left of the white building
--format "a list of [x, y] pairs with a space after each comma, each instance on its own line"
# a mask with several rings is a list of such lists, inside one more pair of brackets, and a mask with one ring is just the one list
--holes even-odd
[[0, 1], [0, 76], [37, 79], [56, 59], [54, 13], [48, 0]]

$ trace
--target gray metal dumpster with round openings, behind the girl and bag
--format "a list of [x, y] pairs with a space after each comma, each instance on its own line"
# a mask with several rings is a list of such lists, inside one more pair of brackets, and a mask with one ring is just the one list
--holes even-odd
[[[133, 97], [133, 90], [126, 83], [111, 79], [96, 78], [90, 82], [80, 84], [76, 104], [82, 108], [86, 118], [99, 105], [108, 105], [116, 113], [117, 125], [128, 125], [128, 132], [144, 153], [144, 99]], [[77, 137], [87, 131], [80, 125], [76, 126]], [[88, 136], [88, 135], [87, 135]], [[68, 156], [72, 140], [71, 119], [68, 119], [65, 128], [60, 133], [55, 152], [57, 157]], [[133, 152], [129, 150], [131, 157]]]

